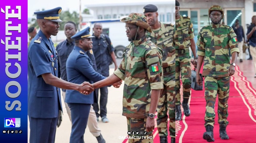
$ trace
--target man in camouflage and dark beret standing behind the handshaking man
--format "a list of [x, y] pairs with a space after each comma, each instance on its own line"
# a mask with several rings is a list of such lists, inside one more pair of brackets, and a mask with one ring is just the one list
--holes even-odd
[[158, 21], [157, 7], [148, 4], [143, 8], [144, 15], [152, 32], [146, 32], [149, 40], [163, 50], [163, 78], [164, 89], [160, 92], [157, 106], [157, 130], [160, 143], [167, 143], [167, 123], [169, 113], [171, 143], [175, 143], [175, 48], [174, 48], [174, 24], [165, 24]]

